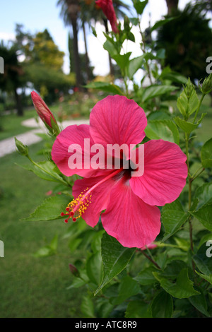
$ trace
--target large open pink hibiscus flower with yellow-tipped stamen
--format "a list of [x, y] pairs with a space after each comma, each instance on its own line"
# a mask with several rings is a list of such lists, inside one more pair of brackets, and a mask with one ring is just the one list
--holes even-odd
[[[94, 227], [101, 215], [102, 226], [124, 247], [142, 248], [160, 232], [158, 206], [175, 201], [187, 178], [186, 155], [175, 143], [153, 140], [144, 143], [144, 172], [131, 176], [129, 157], [123, 152], [119, 169], [93, 170], [92, 167], [70, 169], [69, 146], [78, 144], [82, 159], [88, 159], [85, 138], [90, 145], [125, 144], [132, 149], [145, 137], [146, 115], [141, 107], [124, 96], [108, 96], [90, 113], [90, 125], [68, 126], [57, 136], [52, 147], [52, 160], [66, 176], [78, 174], [73, 185], [73, 201], [66, 208], [66, 222], [82, 216]], [[136, 152], [141, 149], [136, 148]], [[77, 147], [76, 147], [77, 150]], [[90, 160], [93, 158], [90, 153]], [[112, 162], [117, 156], [113, 155]], [[129, 163], [127, 169], [124, 163]], [[85, 165], [85, 164], [83, 164]]]

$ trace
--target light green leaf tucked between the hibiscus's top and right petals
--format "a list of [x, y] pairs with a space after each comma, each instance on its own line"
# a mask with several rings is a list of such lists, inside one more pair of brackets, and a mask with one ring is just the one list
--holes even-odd
[[179, 131], [172, 120], [150, 120], [145, 129], [146, 136], [150, 139], [163, 139], [179, 144]]

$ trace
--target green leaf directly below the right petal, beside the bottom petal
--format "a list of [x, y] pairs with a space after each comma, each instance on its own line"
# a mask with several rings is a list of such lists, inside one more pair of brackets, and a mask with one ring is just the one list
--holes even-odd
[[161, 218], [165, 227], [165, 235], [162, 241], [166, 241], [175, 234], [177, 230], [186, 222], [189, 213], [185, 213], [182, 204], [176, 200], [173, 203], [165, 204], [162, 209]]

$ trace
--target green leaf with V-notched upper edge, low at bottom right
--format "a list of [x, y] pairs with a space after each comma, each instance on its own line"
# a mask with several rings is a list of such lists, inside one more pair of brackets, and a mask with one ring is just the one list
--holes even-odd
[[194, 290], [192, 280], [189, 280], [187, 268], [183, 268], [179, 272], [176, 283], [172, 283], [169, 279], [160, 276], [160, 273], [153, 272], [153, 275], [159, 281], [160, 286], [173, 297], [177, 297], [177, 299], [184, 299], [199, 294], [199, 292]]

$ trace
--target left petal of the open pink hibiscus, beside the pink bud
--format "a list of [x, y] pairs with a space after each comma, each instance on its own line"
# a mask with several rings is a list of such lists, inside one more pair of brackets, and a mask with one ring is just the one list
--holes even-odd
[[[85, 138], [90, 139], [90, 146], [94, 144], [93, 138], [90, 136], [88, 124], [81, 124], [79, 126], [73, 125], [68, 126], [61, 131], [54, 142], [52, 147], [52, 160], [55, 162], [59, 170], [67, 177], [71, 177], [73, 174], [78, 174], [81, 177], [89, 177], [95, 172], [95, 170], [89, 166], [90, 158], [93, 156], [93, 154], [90, 153], [90, 147], [88, 150], [84, 150]], [[69, 147], [71, 145], [76, 148], [75, 150], [72, 150], [72, 153], [69, 152]], [[82, 162], [78, 162], [78, 165], [76, 165], [77, 168], [71, 170], [69, 158], [73, 155], [73, 152], [75, 155], [78, 154], [78, 160], [81, 160]], [[85, 157], [88, 160], [88, 169], [84, 168]]]

